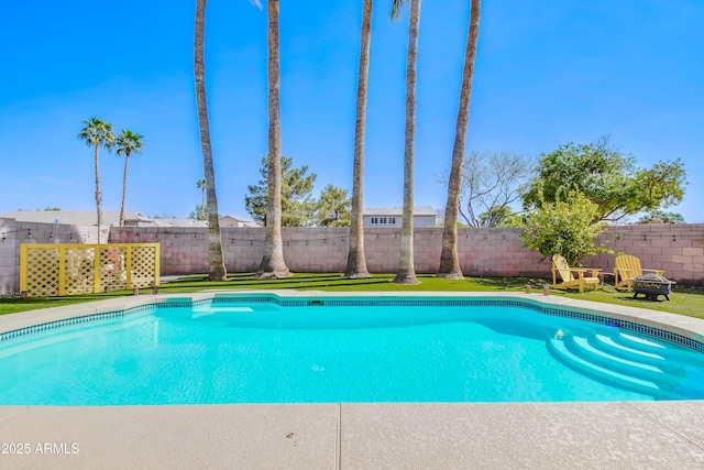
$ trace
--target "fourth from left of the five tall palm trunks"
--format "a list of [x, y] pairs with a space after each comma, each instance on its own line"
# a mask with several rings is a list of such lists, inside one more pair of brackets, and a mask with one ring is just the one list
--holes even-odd
[[[392, 19], [400, 17], [409, 0], [393, 0]], [[404, 144], [404, 209], [400, 229], [400, 259], [397, 284], [419, 284], [414, 266], [414, 160], [416, 141], [416, 62], [418, 57], [418, 29], [420, 0], [410, 0], [408, 24], [408, 54], [406, 57], [406, 141]]]

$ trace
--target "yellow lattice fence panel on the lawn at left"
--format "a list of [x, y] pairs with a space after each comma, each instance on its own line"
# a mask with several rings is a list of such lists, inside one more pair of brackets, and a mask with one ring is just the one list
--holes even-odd
[[158, 243], [20, 247], [20, 289], [30, 297], [158, 285]]

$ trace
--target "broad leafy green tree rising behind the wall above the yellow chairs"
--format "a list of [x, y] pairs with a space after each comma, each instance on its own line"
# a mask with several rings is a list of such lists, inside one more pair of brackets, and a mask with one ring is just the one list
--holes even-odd
[[618, 221], [642, 210], [676, 205], [684, 196], [685, 172], [680, 159], [639, 168], [631, 154], [608, 136], [587, 145], [568, 143], [543, 153], [536, 177], [522, 196], [524, 208], [554, 203], [578, 190], [596, 205], [594, 221]]

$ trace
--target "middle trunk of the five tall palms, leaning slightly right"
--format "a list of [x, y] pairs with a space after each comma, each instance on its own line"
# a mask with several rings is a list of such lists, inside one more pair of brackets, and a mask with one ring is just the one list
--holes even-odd
[[364, 255], [364, 131], [366, 127], [366, 88], [370, 75], [370, 43], [372, 40], [372, 0], [364, 0], [362, 8], [362, 33], [360, 70], [356, 85], [356, 121], [354, 123], [354, 164], [352, 168], [352, 214], [350, 219], [350, 251], [344, 277], [370, 277]]

